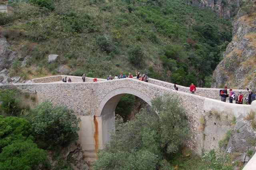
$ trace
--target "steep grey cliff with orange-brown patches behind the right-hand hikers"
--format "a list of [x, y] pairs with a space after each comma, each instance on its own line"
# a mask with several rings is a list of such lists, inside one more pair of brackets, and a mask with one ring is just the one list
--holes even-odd
[[232, 23], [233, 38], [216, 67], [212, 88], [228, 87], [256, 90], [256, 0], [242, 7]]

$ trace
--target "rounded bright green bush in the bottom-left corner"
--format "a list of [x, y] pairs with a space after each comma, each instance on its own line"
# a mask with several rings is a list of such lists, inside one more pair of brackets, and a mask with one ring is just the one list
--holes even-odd
[[49, 168], [46, 150], [37, 148], [32, 140], [16, 141], [0, 153], [1, 170], [36, 170]]

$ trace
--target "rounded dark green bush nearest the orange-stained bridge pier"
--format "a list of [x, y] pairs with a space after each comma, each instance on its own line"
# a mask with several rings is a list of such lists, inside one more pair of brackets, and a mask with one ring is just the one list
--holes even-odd
[[31, 122], [40, 147], [54, 148], [78, 139], [79, 120], [67, 107], [44, 101], [32, 110], [32, 115]]

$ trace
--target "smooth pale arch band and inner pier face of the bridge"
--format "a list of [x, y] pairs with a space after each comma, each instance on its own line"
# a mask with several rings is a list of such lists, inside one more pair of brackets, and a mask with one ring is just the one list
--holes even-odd
[[115, 110], [118, 102], [120, 99], [126, 95], [131, 94], [134, 96], [139, 97], [140, 99], [144, 100], [148, 105], [151, 104], [151, 98], [146, 95], [146, 93], [143, 93], [142, 91], [138, 91], [136, 89], [132, 89], [129, 87], [120, 87], [118, 89], [114, 89], [113, 91], [110, 91], [100, 102], [100, 105], [95, 113], [95, 116], [101, 117], [102, 122], [102, 149], [104, 148], [104, 145], [109, 142], [110, 140], [110, 133], [115, 130]]

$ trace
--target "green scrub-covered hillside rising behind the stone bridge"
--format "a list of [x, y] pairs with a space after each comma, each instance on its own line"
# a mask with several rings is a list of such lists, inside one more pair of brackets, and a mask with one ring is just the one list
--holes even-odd
[[[12, 0], [10, 5], [14, 13], [0, 14], [0, 25], [37, 18], [1, 30], [14, 50], [31, 56], [26, 67], [17, 61], [12, 68], [24, 79], [56, 74], [61, 64], [74, 75], [140, 70], [180, 85], [207, 86], [231, 40], [229, 21], [182, 0]], [[48, 64], [50, 53], [59, 54], [58, 61]]]

